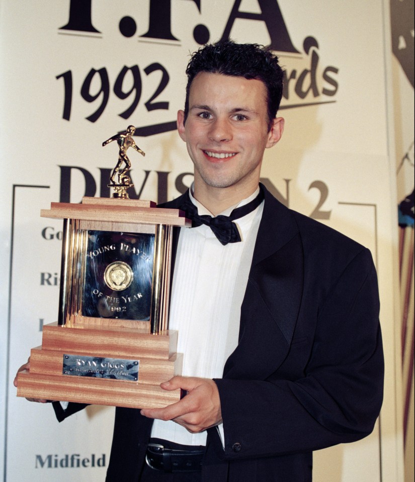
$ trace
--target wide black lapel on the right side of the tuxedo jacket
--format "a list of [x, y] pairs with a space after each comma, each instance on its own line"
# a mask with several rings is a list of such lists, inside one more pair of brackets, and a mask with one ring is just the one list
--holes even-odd
[[241, 306], [239, 343], [225, 378], [265, 379], [287, 356], [303, 290], [303, 253], [290, 211], [265, 191], [265, 205]]

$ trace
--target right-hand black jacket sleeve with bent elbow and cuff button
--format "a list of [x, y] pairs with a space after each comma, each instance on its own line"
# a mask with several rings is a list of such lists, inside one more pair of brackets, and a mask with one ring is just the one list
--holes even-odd
[[[383, 398], [383, 351], [375, 268], [361, 251], [317, 310], [310, 357], [298, 379], [215, 379], [224, 458], [290, 454], [371, 433]], [[310, 321], [311, 323], [311, 321]]]

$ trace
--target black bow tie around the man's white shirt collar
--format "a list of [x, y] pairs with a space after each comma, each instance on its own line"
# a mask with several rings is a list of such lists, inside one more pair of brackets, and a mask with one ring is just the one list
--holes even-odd
[[218, 240], [223, 245], [226, 245], [228, 243], [237, 243], [241, 241], [238, 228], [233, 221], [235, 219], [243, 218], [243, 216], [246, 216], [257, 209], [263, 200], [264, 191], [260, 185], [258, 196], [248, 204], [245, 204], [240, 208], [235, 208], [229, 216], [219, 215], [213, 218], [212, 216], [200, 216], [198, 214], [197, 207], [190, 200], [189, 191], [187, 191], [185, 202], [180, 209], [182, 209], [186, 213], [186, 217], [192, 221], [192, 228], [197, 228], [198, 226], [205, 224], [210, 227]]

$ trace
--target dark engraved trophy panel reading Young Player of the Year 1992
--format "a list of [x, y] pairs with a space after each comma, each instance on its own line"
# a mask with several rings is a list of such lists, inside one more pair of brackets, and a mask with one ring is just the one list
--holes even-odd
[[154, 234], [86, 231], [78, 313], [95, 318], [150, 319]]

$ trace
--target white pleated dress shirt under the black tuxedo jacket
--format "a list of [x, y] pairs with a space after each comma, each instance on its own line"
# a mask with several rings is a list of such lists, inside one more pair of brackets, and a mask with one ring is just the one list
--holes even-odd
[[[234, 208], [223, 213], [229, 216]], [[212, 215], [190, 198], [199, 215]], [[242, 241], [223, 246], [205, 225], [182, 228], [173, 277], [169, 329], [179, 331], [177, 351], [184, 353], [183, 375], [221, 378], [226, 359], [238, 343], [240, 307], [250, 271], [264, 202], [236, 223]], [[223, 426], [218, 426], [223, 441]], [[154, 420], [152, 437], [184, 445], [205, 445], [206, 431], [191, 434], [173, 421]]]

